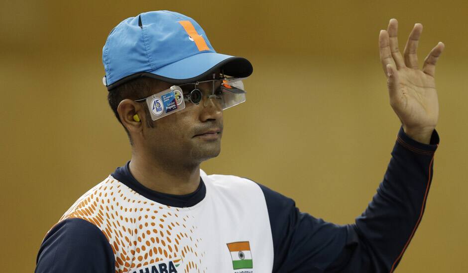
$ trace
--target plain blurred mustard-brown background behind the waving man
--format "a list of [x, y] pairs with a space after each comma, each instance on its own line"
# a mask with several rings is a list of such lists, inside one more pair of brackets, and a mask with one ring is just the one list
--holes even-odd
[[32, 272], [47, 230], [129, 159], [102, 85], [102, 46], [118, 22], [157, 9], [193, 17], [218, 52], [254, 66], [247, 103], [225, 112], [222, 153], [204, 170], [248, 177], [341, 224], [371, 200], [399, 129], [379, 30], [397, 18], [403, 49], [422, 23], [421, 64], [446, 45], [436, 72], [441, 143], [424, 218], [396, 272], [468, 272], [468, 4], [435, 0], [1, 1], [2, 272]]

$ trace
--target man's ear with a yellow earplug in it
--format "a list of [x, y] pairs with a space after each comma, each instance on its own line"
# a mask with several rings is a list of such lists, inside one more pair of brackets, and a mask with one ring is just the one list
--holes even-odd
[[[128, 132], [139, 133], [143, 128], [142, 124], [145, 121], [144, 106], [145, 104], [134, 102], [130, 99], [122, 100], [117, 106], [117, 113], [120, 121]], [[134, 116], [138, 115], [135, 119]], [[139, 121], [138, 121], [139, 120]]]

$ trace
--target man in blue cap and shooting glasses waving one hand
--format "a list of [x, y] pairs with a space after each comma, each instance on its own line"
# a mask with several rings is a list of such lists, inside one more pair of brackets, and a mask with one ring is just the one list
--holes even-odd
[[421, 31], [416, 24], [403, 56], [397, 21], [380, 32], [402, 129], [372, 202], [340, 226], [248, 179], [200, 170], [220, 152], [223, 110], [245, 100], [247, 60], [216, 53], [176, 12], [122, 21], [103, 48], [104, 82], [131, 159], [51, 228], [36, 272], [393, 272], [421, 221], [439, 142], [434, 71], [444, 45], [419, 70]]

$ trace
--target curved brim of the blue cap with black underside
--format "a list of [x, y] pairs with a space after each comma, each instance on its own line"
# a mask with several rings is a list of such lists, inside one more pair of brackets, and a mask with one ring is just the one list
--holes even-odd
[[107, 86], [108, 90], [138, 77], [151, 77], [174, 84], [187, 83], [208, 76], [216, 69], [222, 69], [225, 75], [248, 77], [252, 64], [247, 59], [214, 52], [196, 54], [175, 63], [149, 72], [139, 72], [119, 79]]

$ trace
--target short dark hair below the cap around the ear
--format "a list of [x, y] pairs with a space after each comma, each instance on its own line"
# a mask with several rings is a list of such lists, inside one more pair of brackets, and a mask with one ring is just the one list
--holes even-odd
[[[120, 120], [120, 117], [117, 112], [118, 104], [124, 99], [137, 100], [137, 99], [142, 99], [142, 98], [150, 96], [152, 94], [151, 90], [153, 90], [153, 88], [157, 85], [157, 83], [158, 83], [158, 80], [156, 79], [149, 78], [149, 77], [139, 77], [139, 78], [135, 78], [130, 81], [127, 81], [125, 83], [122, 83], [121, 85], [118, 85], [112, 90], [109, 90], [109, 93], [107, 95], [109, 106], [111, 106], [111, 109], [114, 112], [114, 115], [116, 116], [118, 122], [122, 126], [123, 126], [122, 121]], [[147, 126], [153, 127], [153, 124], [151, 123], [151, 115], [149, 114], [149, 111], [147, 109], [145, 110], [145, 113], [146, 113]], [[125, 132], [127, 133], [127, 136], [130, 140], [130, 144], [133, 144], [131, 137], [130, 137], [130, 133], [125, 128], [125, 126], [123, 126], [123, 129], [125, 129]]]

